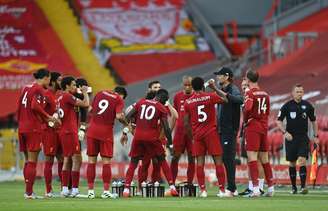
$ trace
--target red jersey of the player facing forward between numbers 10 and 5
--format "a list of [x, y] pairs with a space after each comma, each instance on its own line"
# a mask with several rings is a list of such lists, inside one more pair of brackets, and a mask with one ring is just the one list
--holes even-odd
[[184, 114], [185, 114], [184, 103], [191, 96], [192, 96], [192, 94], [187, 95], [183, 91], [176, 93], [174, 96], [173, 106], [179, 114], [179, 117], [176, 120], [176, 129], [179, 131], [184, 129], [184, 123], [183, 123]]

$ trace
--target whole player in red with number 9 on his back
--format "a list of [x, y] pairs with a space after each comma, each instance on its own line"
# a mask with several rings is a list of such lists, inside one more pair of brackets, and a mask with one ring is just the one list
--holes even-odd
[[124, 122], [123, 100], [126, 96], [126, 89], [118, 86], [114, 91], [98, 92], [93, 99], [90, 126], [87, 130], [87, 179], [89, 198], [95, 198], [94, 180], [96, 177], [96, 163], [99, 153], [103, 164], [102, 179], [104, 184], [104, 192], [101, 198], [115, 197], [109, 192], [112, 176], [110, 163], [114, 149], [113, 127], [115, 119]]

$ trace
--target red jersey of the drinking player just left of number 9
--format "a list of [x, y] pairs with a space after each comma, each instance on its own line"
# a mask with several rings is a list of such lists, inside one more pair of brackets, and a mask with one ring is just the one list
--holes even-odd
[[76, 115], [76, 101], [77, 98], [67, 92], [61, 92], [58, 99], [59, 117], [62, 124], [60, 132], [63, 133], [77, 133], [78, 119]]

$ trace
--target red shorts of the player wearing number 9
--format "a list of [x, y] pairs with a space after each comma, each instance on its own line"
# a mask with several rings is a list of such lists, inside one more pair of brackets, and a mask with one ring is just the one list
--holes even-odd
[[101, 157], [113, 157], [113, 140], [98, 140], [95, 138], [87, 137], [87, 155], [97, 156], [100, 153]]

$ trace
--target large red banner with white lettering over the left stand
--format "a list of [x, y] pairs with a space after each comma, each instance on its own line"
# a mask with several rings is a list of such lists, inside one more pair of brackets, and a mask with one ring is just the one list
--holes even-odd
[[20, 89], [39, 68], [80, 75], [35, 1], [0, 1], [0, 117], [16, 111]]

